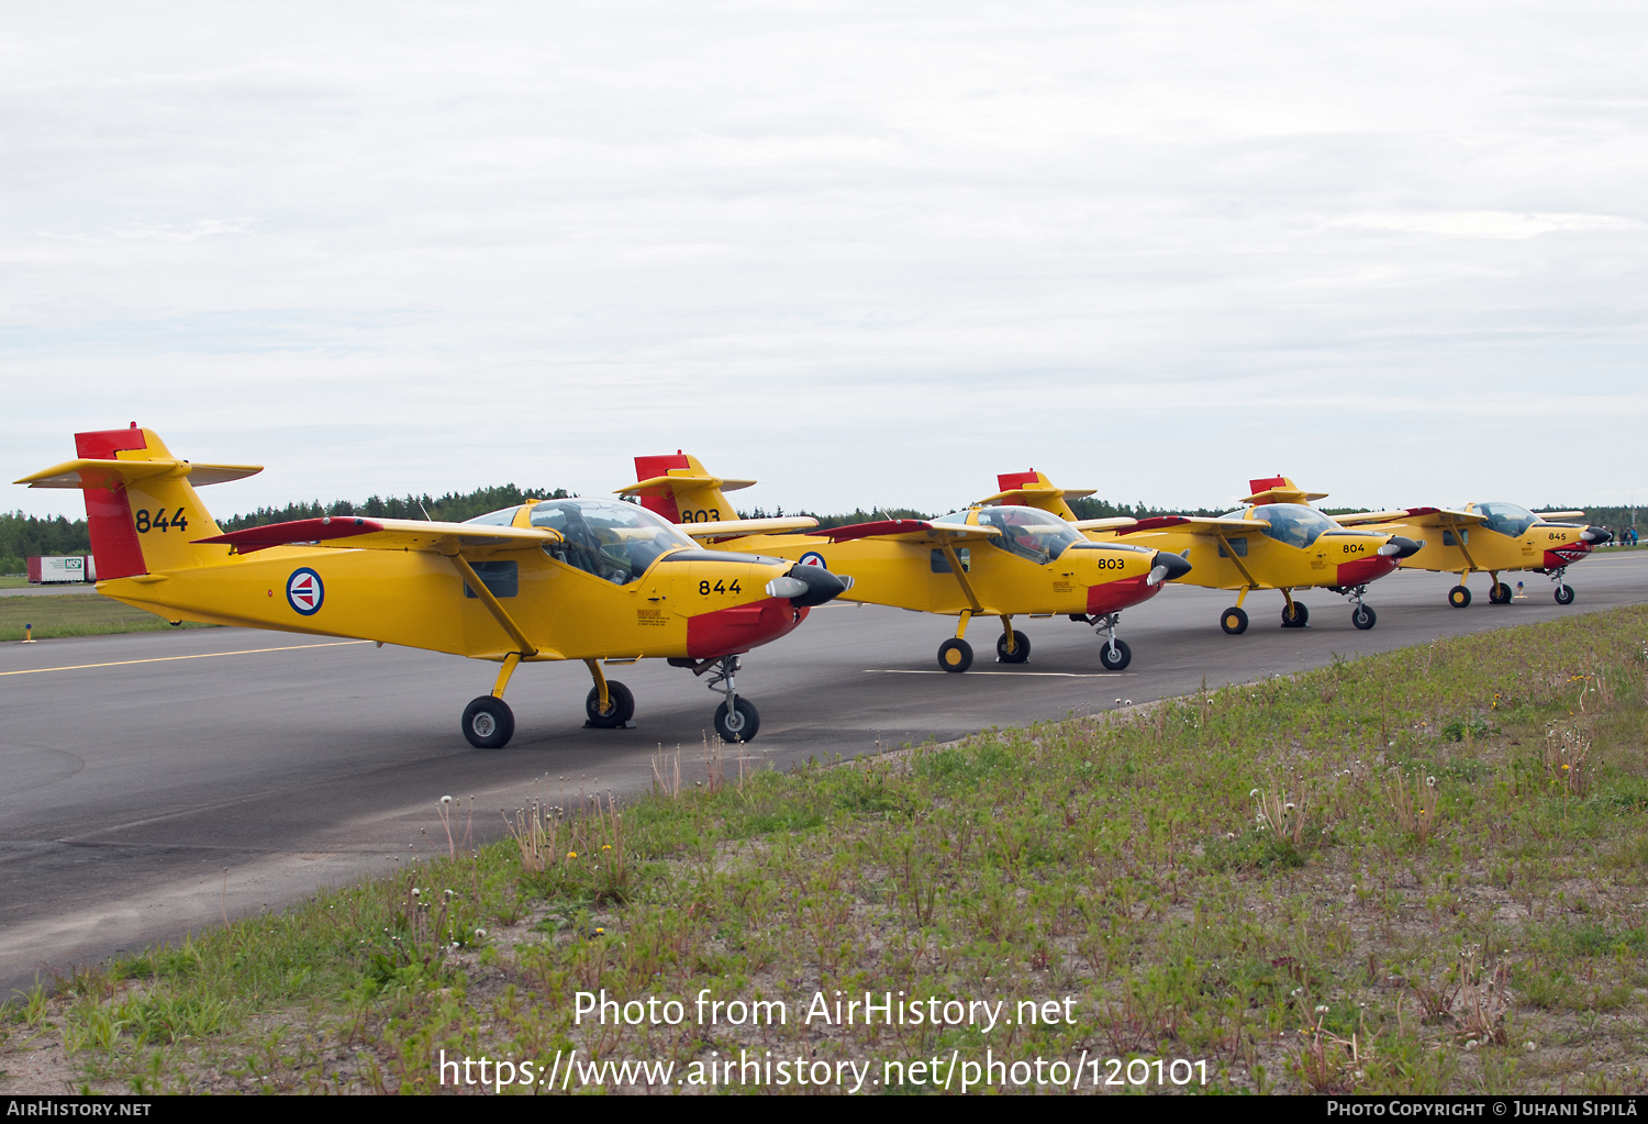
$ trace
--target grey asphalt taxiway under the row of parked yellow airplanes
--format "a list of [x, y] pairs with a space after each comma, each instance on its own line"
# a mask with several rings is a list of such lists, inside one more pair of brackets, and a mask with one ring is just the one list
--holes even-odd
[[[987, 727], [1106, 710], [1248, 682], [1440, 636], [1648, 602], [1648, 552], [1571, 570], [1559, 606], [1539, 575], [1528, 600], [1445, 605], [1450, 575], [1396, 574], [1369, 587], [1379, 613], [1356, 631], [1333, 593], [1304, 595], [1310, 628], [1279, 628], [1280, 597], [1248, 600], [1252, 625], [1226, 636], [1231, 593], [1173, 587], [1122, 616], [1134, 661], [1098, 661], [1099, 641], [1063, 618], [1017, 621], [1030, 663], [994, 663], [999, 625], [969, 630], [967, 674], [938, 669], [954, 623], [829, 605], [745, 658], [740, 694], [761, 712], [751, 765], [875, 753]], [[648, 661], [610, 676], [636, 695], [628, 730], [588, 730], [582, 664], [527, 664], [509, 686], [516, 737], [475, 750], [463, 705], [494, 666], [288, 633], [191, 630], [0, 646], [0, 997], [49, 972], [186, 930], [274, 910], [318, 885], [447, 849], [443, 794], [475, 832], [503, 832], [501, 808], [583, 789], [644, 789], [649, 760], [681, 747], [699, 775], [719, 700], [689, 671]], [[438, 836], [438, 841], [437, 841]]]

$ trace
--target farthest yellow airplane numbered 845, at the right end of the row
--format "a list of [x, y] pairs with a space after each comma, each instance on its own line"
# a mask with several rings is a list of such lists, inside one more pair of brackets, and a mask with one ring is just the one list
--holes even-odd
[[[1584, 511], [1533, 513], [1513, 503], [1468, 503], [1463, 511], [1452, 508], [1404, 508], [1398, 511], [1369, 511], [1355, 516], [1338, 516], [1345, 526], [1394, 531], [1426, 537], [1419, 552], [1402, 559], [1404, 569], [1430, 570], [1434, 574], [1458, 574], [1458, 585], [1447, 592], [1454, 608], [1470, 605], [1472, 574], [1486, 572], [1493, 582], [1488, 602], [1511, 603], [1511, 587], [1500, 580], [1508, 570], [1533, 570], [1556, 582], [1556, 603], [1572, 605], [1574, 587], [1567, 583], [1567, 567], [1579, 562], [1592, 547], [1613, 537], [1607, 527], [1589, 527], [1580, 522], [1552, 522], [1572, 519]], [[1475, 537], [1472, 537], [1475, 536]]]

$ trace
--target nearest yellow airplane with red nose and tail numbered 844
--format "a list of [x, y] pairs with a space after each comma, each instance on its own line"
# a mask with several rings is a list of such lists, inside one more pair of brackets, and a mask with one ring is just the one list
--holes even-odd
[[674, 524], [611, 499], [527, 501], [466, 522], [333, 516], [222, 534], [194, 488], [262, 466], [178, 460], [135, 422], [76, 433], [74, 447], [77, 460], [16, 483], [84, 491], [101, 593], [171, 621], [501, 663], [491, 694], [463, 710], [476, 748], [514, 733], [503, 695], [522, 661], [582, 659], [595, 679], [588, 725], [613, 728], [633, 717], [634, 695], [602, 663], [651, 656], [714, 672], [710, 691], [723, 695], [715, 732], [748, 742], [760, 714], [737, 694], [740, 654], [845, 588], [822, 570], [702, 550]]

